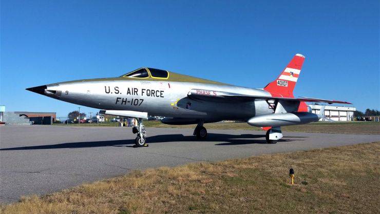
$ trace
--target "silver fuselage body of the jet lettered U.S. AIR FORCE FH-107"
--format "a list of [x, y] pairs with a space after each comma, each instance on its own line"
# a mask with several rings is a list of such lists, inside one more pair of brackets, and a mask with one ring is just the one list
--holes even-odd
[[47, 85], [45, 95], [65, 102], [105, 110], [148, 112], [173, 118], [248, 121], [273, 113], [264, 100], [206, 102], [187, 97], [191, 89], [270, 96], [262, 89], [191, 82], [103, 80], [72, 81]]

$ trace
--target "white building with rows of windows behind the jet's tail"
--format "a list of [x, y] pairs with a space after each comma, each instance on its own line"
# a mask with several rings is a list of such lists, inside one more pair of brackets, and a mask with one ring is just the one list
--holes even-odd
[[[320, 112], [321, 105], [310, 104], [309, 107], [312, 109], [312, 113], [322, 114]], [[355, 111], [355, 107], [325, 106], [326, 118], [333, 121], [353, 121]], [[319, 121], [322, 121], [322, 119]]]

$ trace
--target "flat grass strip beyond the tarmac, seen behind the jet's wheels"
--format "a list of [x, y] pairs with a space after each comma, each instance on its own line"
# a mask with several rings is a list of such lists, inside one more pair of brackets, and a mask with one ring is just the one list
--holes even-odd
[[[58, 124], [67, 126], [64, 124]], [[69, 124], [68, 126], [118, 126], [119, 123], [85, 123], [85, 124]], [[166, 125], [157, 121], [144, 122], [146, 127], [165, 127], [165, 128], [195, 128], [196, 125]], [[247, 123], [207, 123], [204, 124], [207, 129], [246, 129], [261, 130], [258, 127], [250, 126]], [[299, 131], [299, 132], [323, 132], [323, 133], [351, 133], [351, 134], [380, 134], [380, 123], [378, 122], [318, 122], [305, 125], [283, 126], [283, 131]]]

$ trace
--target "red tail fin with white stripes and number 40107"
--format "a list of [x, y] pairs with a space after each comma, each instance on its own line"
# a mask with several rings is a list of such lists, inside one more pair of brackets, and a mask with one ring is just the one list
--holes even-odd
[[293, 90], [301, 72], [303, 61], [305, 61], [305, 56], [297, 53], [277, 79], [265, 86], [264, 90], [273, 96], [294, 98]]

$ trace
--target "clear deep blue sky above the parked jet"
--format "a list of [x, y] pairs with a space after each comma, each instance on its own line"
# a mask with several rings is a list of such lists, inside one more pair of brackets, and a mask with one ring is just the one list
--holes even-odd
[[295, 53], [296, 96], [380, 108], [378, 0], [2, 1], [0, 105], [66, 116], [25, 88], [145, 66], [262, 88]]

